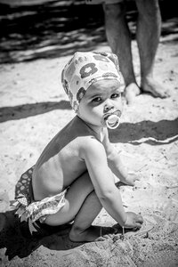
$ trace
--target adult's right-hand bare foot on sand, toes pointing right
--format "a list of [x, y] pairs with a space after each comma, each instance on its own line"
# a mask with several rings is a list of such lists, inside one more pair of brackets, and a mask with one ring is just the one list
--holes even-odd
[[151, 93], [155, 97], [166, 98], [169, 96], [164, 86], [159, 84], [152, 77], [142, 80], [141, 88], [143, 92]]

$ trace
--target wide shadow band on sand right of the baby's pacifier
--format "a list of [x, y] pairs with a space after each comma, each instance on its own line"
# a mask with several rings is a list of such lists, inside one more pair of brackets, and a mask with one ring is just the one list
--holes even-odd
[[110, 142], [142, 142], [150, 145], [163, 145], [178, 140], [178, 118], [153, 122], [145, 120], [139, 123], [123, 123], [116, 130], [109, 131]]

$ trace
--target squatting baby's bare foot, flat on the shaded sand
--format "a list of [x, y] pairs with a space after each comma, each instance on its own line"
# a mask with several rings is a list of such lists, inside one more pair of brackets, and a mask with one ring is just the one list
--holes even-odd
[[69, 232], [69, 239], [73, 242], [93, 242], [96, 239], [101, 240], [101, 227], [100, 226], [90, 226], [85, 231], [78, 229], [71, 229]]

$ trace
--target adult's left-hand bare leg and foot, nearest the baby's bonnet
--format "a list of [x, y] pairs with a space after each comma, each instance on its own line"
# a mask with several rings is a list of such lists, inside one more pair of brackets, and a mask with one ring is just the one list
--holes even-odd
[[125, 98], [131, 103], [140, 93], [134, 76], [131, 35], [125, 19], [125, 2], [104, 4], [105, 28], [109, 46], [116, 53], [125, 80]]

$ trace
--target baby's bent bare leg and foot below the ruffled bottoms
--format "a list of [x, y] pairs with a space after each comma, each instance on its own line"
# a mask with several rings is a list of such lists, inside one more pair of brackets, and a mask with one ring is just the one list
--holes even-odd
[[92, 227], [91, 224], [100, 213], [101, 207], [89, 174], [85, 173], [71, 184], [66, 194], [65, 206], [57, 214], [49, 215], [45, 223], [56, 226], [74, 220], [69, 238], [78, 242], [93, 241], [100, 237], [100, 228]]

